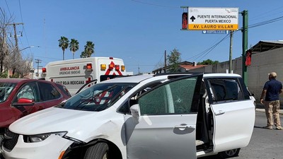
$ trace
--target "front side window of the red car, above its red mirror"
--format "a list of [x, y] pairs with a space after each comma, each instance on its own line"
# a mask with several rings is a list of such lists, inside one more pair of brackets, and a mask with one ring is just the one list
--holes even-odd
[[13, 102], [18, 102], [18, 99], [20, 98], [27, 98], [30, 100], [34, 100], [35, 102], [38, 102], [39, 93], [36, 83], [35, 82], [25, 83], [21, 87], [21, 89], [18, 90], [18, 93], [16, 94], [16, 98], [13, 100]]

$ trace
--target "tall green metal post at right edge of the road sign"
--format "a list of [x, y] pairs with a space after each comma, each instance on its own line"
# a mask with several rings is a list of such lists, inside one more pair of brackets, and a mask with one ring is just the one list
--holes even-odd
[[245, 64], [245, 62], [246, 62], [246, 51], [248, 50], [248, 11], [244, 10], [242, 12], [242, 16], [243, 16], [242, 76], [243, 76], [244, 83], [246, 84], [246, 86], [248, 86], [248, 73], [247, 73], [247, 66]]

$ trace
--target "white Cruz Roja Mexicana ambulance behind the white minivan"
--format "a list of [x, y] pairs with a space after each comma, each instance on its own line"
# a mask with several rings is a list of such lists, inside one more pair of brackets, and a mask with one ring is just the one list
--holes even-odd
[[[61, 83], [66, 86], [71, 95], [87, 83], [98, 83], [117, 76], [126, 76], [122, 59], [113, 57], [88, 57], [52, 61], [42, 68], [42, 78], [47, 81]], [[86, 85], [88, 86], [88, 85]]]

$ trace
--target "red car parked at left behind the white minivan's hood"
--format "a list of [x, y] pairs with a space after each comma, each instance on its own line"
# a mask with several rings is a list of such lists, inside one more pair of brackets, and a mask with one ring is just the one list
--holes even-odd
[[0, 79], [0, 135], [16, 119], [58, 105], [70, 97], [67, 88], [58, 83], [36, 79]]

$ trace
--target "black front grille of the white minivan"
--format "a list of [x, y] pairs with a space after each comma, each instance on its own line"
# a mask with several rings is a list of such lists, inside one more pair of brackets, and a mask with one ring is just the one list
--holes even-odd
[[16, 146], [18, 142], [18, 134], [9, 131], [8, 129], [5, 130], [3, 146], [6, 151], [12, 151], [13, 148]]

